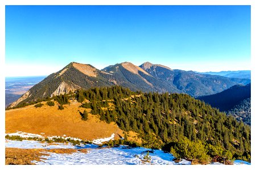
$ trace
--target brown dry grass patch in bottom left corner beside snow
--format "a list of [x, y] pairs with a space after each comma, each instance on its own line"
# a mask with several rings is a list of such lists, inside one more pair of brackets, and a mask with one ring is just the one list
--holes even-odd
[[80, 151], [87, 153], [86, 149], [75, 150], [73, 148], [55, 148], [55, 149], [22, 149], [22, 148], [5, 148], [5, 164], [6, 165], [34, 165], [32, 160], [41, 161], [40, 156], [48, 156], [46, 152], [53, 152], [56, 154], [72, 154]]

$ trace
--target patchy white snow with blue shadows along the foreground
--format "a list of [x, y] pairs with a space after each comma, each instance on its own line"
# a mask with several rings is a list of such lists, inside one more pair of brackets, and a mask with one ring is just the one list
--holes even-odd
[[[52, 165], [52, 164], [68, 164], [68, 165], [76, 165], [76, 164], [83, 164], [83, 165], [93, 165], [93, 164], [168, 164], [168, 165], [180, 165], [185, 164], [189, 165], [191, 162], [187, 160], [182, 160], [179, 163], [175, 163], [172, 159], [174, 156], [170, 153], [164, 153], [161, 150], [154, 150], [154, 153], [149, 153], [151, 156], [150, 163], [142, 162], [143, 156], [147, 154], [148, 148], [143, 147], [136, 147], [130, 148], [127, 146], [120, 146], [120, 147], [102, 147], [99, 148], [97, 145], [88, 144], [88, 145], [76, 145], [73, 146], [71, 143], [54, 143], [54, 145], [49, 145], [46, 142], [39, 142], [39, 141], [11, 141], [6, 140], [5, 147], [16, 147], [16, 148], [86, 148], [88, 153], [82, 152], [73, 152], [72, 154], [56, 154], [52, 152], [47, 152], [49, 156], [42, 156], [41, 162], [33, 161], [35, 164], [39, 165]], [[149, 150], [151, 151], [151, 150]], [[221, 165], [220, 163], [212, 163], [214, 165]], [[250, 164], [244, 162], [242, 160], [235, 160], [234, 164], [236, 165], [245, 165]]]

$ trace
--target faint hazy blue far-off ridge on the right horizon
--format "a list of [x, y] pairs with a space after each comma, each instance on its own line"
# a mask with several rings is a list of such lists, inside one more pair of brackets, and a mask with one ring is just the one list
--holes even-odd
[[[200, 72], [196, 72], [200, 73]], [[220, 72], [204, 72], [200, 74], [210, 74], [210, 75], [221, 75], [228, 78], [244, 78], [251, 79], [251, 70], [239, 70], [239, 71], [220, 71]]]

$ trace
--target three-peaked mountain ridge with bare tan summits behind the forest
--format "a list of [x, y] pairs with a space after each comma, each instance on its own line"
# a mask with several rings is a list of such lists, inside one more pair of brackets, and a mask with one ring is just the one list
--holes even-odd
[[130, 62], [110, 65], [98, 70], [92, 65], [71, 62], [60, 71], [47, 76], [9, 107], [67, 94], [79, 88], [119, 85], [132, 91], [186, 93], [191, 96], [216, 94], [250, 79], [204, 75], [193, 71], [172, 70], [167, 66], [145, 62], [135, 66]]

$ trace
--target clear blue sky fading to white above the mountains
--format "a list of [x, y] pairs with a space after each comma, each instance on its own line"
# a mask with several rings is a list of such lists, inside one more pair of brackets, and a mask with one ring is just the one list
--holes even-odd
[[250, 70], [250, 6], [6, 6], [6, 76], [149, 61]]

